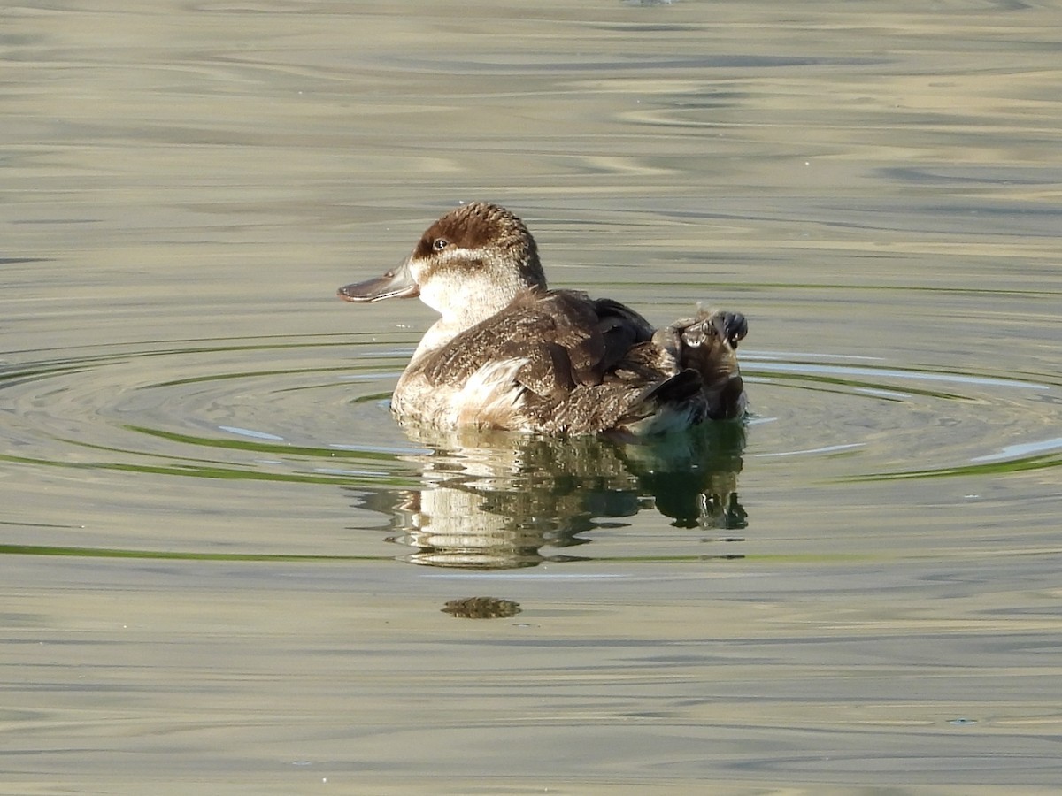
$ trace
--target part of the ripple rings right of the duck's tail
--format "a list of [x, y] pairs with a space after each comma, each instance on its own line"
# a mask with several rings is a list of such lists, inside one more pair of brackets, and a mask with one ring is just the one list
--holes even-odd
[[[1057, 440], [1044, 443], [1038, 431], [1054, 425], [1056, 381], [852, 359], [746, 354], [742, 367], [763, 426], [750, 434], [750, 454], [816, 457], [819, 478], [842, 480], [1003, 472], [1062, 462]], [[793, 390], [800, 395], [793, 397]]]

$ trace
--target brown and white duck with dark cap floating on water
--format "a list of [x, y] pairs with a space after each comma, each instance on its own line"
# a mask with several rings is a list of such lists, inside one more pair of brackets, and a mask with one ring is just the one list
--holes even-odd
[[446, 213], [401, 265], [339, 296], [419, 296], [442, 315], [395, 387], [399, 421], [641, 436], [744, 414], [743, 315], [702, 309], [654, 330], [618, 301], [549, 290], [531, 233], [497, 205]]

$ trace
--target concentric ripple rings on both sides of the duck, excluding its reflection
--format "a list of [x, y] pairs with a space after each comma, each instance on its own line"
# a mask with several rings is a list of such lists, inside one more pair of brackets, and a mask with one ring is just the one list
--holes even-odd
[[[417, 468], [408, 460], [428, 452], [387, 410], [409, 357], [401, 338], [191, 340], [17, 354], [24, 361], [0, 370], [8, 462], [413, 486]], [[1059, 437], [1038, 431], [1052, 422], [1060, 400], [1046, 378], [808, 352], [749, 351], [742, 362], [753, 457], [842, 457], [833, 474], [846, 478], [1059, 464]], [[912, 460], [925, 466], [890, 472], [890, 463]]]

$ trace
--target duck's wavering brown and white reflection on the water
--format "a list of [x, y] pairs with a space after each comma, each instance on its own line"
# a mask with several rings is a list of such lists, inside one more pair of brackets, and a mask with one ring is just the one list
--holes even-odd
[[644, 511], [676, 527], [746, 526], [737, 497], [744, 447], [738, 422], [637, 444], [406, 430], [428, 449], [408, 457], [422, 468], [422, 488], [350, 490], [356, 506], [391, 518], [389, 540], [412, 548], [402, 557], [413, 564], [507, 569], [586, 558], [572, 553], [589, 541], [580, 534]]

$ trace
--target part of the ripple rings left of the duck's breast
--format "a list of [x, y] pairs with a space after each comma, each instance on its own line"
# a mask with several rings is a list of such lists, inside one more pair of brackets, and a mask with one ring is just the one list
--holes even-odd
[[350, 335], [38, 353], [45, 356], [0, 373], [15, 418], [4, 432], [6, 448], [24, 451], [6, 461], [200, 478], [352, 480], [321, 467], [327, 460], [353, 467], [364, 483], [408, 480], [400, 456], [419, 450], [391, 429], [386, 408], [397, 363], [408, 354]]

